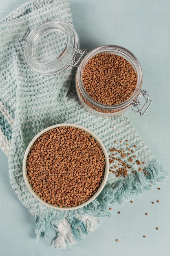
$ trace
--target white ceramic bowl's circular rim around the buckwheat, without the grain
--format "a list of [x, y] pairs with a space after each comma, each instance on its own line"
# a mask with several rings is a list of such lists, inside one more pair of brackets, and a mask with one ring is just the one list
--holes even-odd
[[[74, 207], [59, 207], [59, 206], [55, 206], [53, 204], [49, 204], [47, 202], [45, 202], [44, 200], [42, 200], [40, 198], [39, 195], [37, 195], [33, 189], [32, 189], [32, 186], [31, 184], [29, 183], [29, 180], [28, 178], [26, 177], [27, 175], [27, 171], [26, 171], [26, 159], [28, 157], [28, 154], [29, 154], [29, 151], [31, 149], [31, 146], [33, 146], [33, 144], [35, 143], [35, 141], [44, 133], [44, 132], [47, 132], [51, 129], [54, 129], [54, 128], [57, 128], [57, 127], [66, 127], [66, 126], [69, 126], [69, 127], [74, 127], [74, 128], [79, 128], [85, 132], [87, 132], [88, 134], [90, 134], [92, 137], [94, 137], [95, 141], [97, 141], [99, 143], [99, 145], [102, 147], [102, 151], [104, 153], [104, 156], [105, 156], [105, 171], [104, 171], [104, 179], [102, 180], [98, 190], [96, 193], [94, 193], [91, 198], [89, 198], [86, 202], [82, 203], [82, 204], [79, 204], [77, 206], [74, 206]], [[79, 126], [77, 124], [56, 124], [56, 125], [53, 125], [53, 126], [49, 126], [47, 128], [45, 128], [44, 130], [42, 130], [41, 132], [39, 132], [32, 140], [31, 142], [29, 143], [28, 147], [26, 148], [26, 151], [25, 151], [25, 154], [24, 154], [24, 159], [23, 159], [23, 165], [22, 165], [22, 171], [23, 171], [23, 176], [24, 176], [24, 181], [25, 181], [25, 184], [27, 186], [27, 188], [29, 189], [29, 191], [31, 192], [31, 194], [39, 201], [41, 202], [42, 204], [46, 205], [47, 207], [50, 207], [50, 208], [53, 208], [53, 209], [58, 209], [58, 210], [74, 210], [74, 209], [78, 209], [78, 208], [81, 208], [81, 207], [84, 207], [86, 204], [89, 204], [90, 202], [92, 202], [98, 195], [99, 193], [101, 193], [102, 189], [104, 188], [105, 184], [106, 184], [106, 181], [107, 181], [107, 178], [108, 178], [108, 173], [109, 173], [109, 159], [108, 159], [108, 154], [107, 154], [107, 151], [106, 151], [106, 148], [104, 146], [104, 144], [102, 143], [102, 141], [97, 137], [97, 135], [95, 135], [91, 130], [85, 128], [84, 126]]]

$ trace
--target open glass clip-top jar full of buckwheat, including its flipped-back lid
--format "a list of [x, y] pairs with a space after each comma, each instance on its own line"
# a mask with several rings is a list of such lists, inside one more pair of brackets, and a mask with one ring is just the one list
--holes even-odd
[[137, 58], [117, 45], [103, 45], [86, 52], [71, 24], [50, 20], [29, 29], [22, 41], [27, 64], [43, 75], [54, 75], [69, 66], [77, 68], [77, 97], [93, 114], [120, 115], [128, 108], [144, 115], [152, 101], [141, 90], [142, 70]]

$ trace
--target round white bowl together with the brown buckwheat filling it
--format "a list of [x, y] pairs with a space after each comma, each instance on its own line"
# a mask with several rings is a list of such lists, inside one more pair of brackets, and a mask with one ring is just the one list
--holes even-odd
[[102, 141], [75, 124], [42, 130], [30, 142], [23, 159], [26, 186], [42, 204], [72, 210], [92, 202], [102, 191], [109, 160]]

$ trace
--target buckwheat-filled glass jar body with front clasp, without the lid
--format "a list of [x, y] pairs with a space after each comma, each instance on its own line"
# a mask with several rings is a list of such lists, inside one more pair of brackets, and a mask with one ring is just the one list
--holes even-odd
[[[139, 61], [130, 51], [117, 45], [93, 49], [76, 73], [79, 101], [88, 111], [104, 117], [120, 115], [130, 107], [144, 115], [151, 101], [148, 93], [141, 91], [141, 86]], [[144, 105], [139, 108], [142, 96]]]

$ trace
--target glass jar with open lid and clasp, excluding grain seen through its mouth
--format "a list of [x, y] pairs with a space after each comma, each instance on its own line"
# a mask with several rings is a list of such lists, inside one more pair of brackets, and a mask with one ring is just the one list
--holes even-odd
[[[79, 38], [72, 27], [63, 20], [50, 20], [29, 29], [22, 41], [25, 43], [24, 56], [28, 65], [43, 75], [53, 75], [64, 71], [69, 66], [77, 67], [75, 88], [77, 97], [93, 114], [102, 117], [120, 115], [128, 108], [143, 116], [152, 101], [148, 92], [141, 90], [142, 70], [137, 58], [127, 49], [117, 45], [103, 45], [86, 52], [79, 49]], [[97, 54], [115, 54], [123, 57], [137, 74], [135, 90], [128, 99], [118, 104], [104, 104], [91, 97], [83, 84], [83, 72], [86, 64]]]

